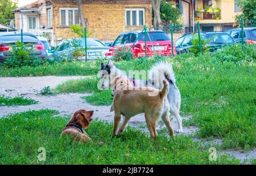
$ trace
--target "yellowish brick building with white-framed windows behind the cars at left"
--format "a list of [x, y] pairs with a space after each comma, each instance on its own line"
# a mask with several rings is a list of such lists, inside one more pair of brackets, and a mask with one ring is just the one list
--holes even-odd
[[[88, 31], [104, 41], [112, 41], [123, 31], [152, 26], [150, 0], [84, 0], [82, 12]], [[80, 24], [77, 2], [72, 0], [39, 0], [15, 10], [18, 30], [47, 36], [51, 45], [76, 37], [70, 25]]]

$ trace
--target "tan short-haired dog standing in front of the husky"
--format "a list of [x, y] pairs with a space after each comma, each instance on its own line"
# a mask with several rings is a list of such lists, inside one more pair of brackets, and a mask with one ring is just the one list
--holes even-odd
[[[163, 89], [159, 90], [151, 87], [133, 87], [130, 80], [125, 76], [117, 76], [112, 80], [110, 87], [114, 92], [113, 109], [115, 112], [113, 136], [121, 134], [130, 118], [140, 113], [145, 115], [151, 139], [155, 139], [158, 135], [156, 126], [160, 117], [167, 126], [170, 135], [174, 136], [174, 130], [169, 119], [169, 104], [166, 98], [169, 84], [166, 80], [163, 81], [163, 84]], [[117, 132], [121, 115], [125, 119]]]

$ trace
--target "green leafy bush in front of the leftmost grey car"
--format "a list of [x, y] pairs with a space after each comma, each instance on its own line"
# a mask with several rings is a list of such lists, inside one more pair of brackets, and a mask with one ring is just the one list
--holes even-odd
[[23, 45], [22, 42], [16, 41], [16, 46], [12, 46], [10, 58], [3, 62], [3, 66], [7, 68], [32, 66], [36, 67], [46, 62], [44, 59], [36, 57], [33, 54], [33, 48], [30, 44]]

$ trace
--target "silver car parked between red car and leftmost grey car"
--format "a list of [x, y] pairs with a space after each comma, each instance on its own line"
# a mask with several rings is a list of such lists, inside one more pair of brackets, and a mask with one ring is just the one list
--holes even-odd
[[[87, 59], [96, 59], [105, 57], [105, 53], [109, 51], [109, 47], [96, 38], [87, 38], [86, 45]], [[84, 38], [70, 38], [61, 41], [53, 50], [53, 54], [49, 58], [57, 57], [59, 59], [85, 59], [85, 42]]]

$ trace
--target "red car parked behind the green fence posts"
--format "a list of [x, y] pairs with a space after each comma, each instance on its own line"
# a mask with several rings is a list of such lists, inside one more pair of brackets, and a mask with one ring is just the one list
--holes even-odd
[[[123, 32], [119, 35], [112, 44], [109, 46], [109, 52], [105, 55], [108, 57], [112, 57], [115, 54], [115, 50], [121, 50], [122, 48], [130, 49], [133, 45], [136, 38], [139, 36], [140, 31], [129, 31]], [[149, 36], [146, 35], [146, 45], [147, 45], [147, 56], [151, 56], [155, 54], [158, 55], [172, 55], [172, 47], [171, 47], [171, 38], [163, 31], [149, 31]], [[151, 44], [151, 41], [152, 44]], [[154, 51], [155, 49], [155, 51]], [[145, 41], [144, 41], [144, 33], [139, 36], [138, 40], [135, 42], [133, 48], [131, 48], [131, 52], [134, 57], [144, 56], [145, 55]], [[176, 55], [176, 46], [174, 44], [174, 55]]]

